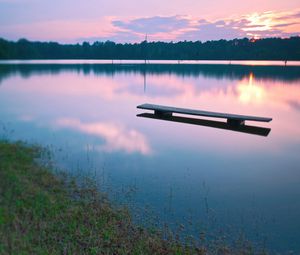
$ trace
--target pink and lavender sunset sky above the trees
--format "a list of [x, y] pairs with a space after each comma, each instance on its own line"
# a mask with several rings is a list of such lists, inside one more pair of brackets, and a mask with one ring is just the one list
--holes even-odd
[[300, 35], [299, 0], [0, 0], [0, 37], [81, 43]]

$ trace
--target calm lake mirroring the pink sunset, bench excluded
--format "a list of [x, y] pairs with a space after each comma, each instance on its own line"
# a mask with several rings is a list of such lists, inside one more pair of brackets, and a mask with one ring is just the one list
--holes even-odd
[[[273, 118], [267, 137], [137, 117], [166, 106]], [[0, 63], [0, 137], [50, 148], [137, 222], [300, 253], [300, 65]]]

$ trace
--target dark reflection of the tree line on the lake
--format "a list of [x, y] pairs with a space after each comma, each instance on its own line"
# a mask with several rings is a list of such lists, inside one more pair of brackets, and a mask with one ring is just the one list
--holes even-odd
[[145, 75], [176, 75], [182, 77], [211, 77], [241, 80], [253, 73], [256, 79], [299, 81], [299, 66], [243, 66], [243, 65], [198, 65], [198, 64], [10, 64], [0, 65], [0, 83], [3, 79], [20, 75], [58, 74], [76, 72], [84, 75], [114, 76], [118, 73]]

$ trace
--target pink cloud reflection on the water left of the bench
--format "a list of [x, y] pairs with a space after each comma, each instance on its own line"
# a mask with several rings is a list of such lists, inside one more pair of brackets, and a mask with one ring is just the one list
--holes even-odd
[[82, 123], [78, 119], [59, 119], [56, 125], [103, 138], [105, 145], [99, 147], [101, 150], [109, 152], [123, 150], [127, 153], [139, 152], [144, 155], [151, 153], [148, 141], [143, 134], [134, 129], [126, 130], [114, 123]]

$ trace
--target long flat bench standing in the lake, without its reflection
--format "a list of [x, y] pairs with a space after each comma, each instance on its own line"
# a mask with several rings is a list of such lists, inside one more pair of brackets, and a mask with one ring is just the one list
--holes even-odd
[[172, 117], [173, 113], [179, 113], [185, 115], [222, 118], [222, 119], [227, 119], [227, 124], [229, 126], [234, 126], [234, 127], [245, 125], [246, 120], [259, 121], [259, 122], [270, 122], [272, 120], [272, 118], [266, 118], [266, 117], [246, 116], [246, 115], [220, 113], [220, 112], [208, 112], [208, 111], [177, 108], [177, 107], [155, 105], [155, 104], [141, 104], [138, 105], [137, 108], [145, 109], [145, 110], [153, 110], [154, 115], [157, 117]]

